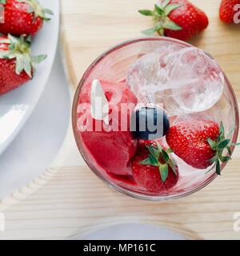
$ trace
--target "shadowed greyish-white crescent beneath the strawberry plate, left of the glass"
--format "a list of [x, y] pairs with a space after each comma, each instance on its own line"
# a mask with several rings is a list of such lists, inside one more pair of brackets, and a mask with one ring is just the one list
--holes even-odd
[[0, 157], [0, 200], [38, 178], [58, 154], [70, 124], [69, 89], [59, 49], [33, 114]]

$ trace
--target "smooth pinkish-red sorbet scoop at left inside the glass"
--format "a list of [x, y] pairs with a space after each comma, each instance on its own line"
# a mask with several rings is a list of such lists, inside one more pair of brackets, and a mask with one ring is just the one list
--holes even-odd
[[[88, 154], [91, 154], [99, 166], [112, 174], [129, 175], [130, 159], [137, 150], [137, 141], [130, 132], [130, 115], [138, 100], [124, 83], [101, 81], [101, 84], [109, 102], [109, 125], [92, 117], [91, 84], [87, 84], [82, 87], [79, 97], [78, 134], [86, 145]], [[130, 110], [126, 110], [126, 106], [130, 107]], [[79, 130], [82, 124], [88, 130]], [[110, 127], [112, 130], [109, 130]]]

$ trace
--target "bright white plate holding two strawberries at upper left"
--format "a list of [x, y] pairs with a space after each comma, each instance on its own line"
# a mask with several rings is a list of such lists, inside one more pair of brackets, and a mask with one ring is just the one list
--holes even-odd
[[45, 8], [54, 11], [52, 20], [44, 24], [32, 45], [34, 55], [47, 54], [47, 58], [38, 64], [32, 81], [0, 96], [0, 154], [6, 150], [30, 117], [46, 86], [54, 62], [58, 44], [59, 2], [58, 0], [38, 1]]

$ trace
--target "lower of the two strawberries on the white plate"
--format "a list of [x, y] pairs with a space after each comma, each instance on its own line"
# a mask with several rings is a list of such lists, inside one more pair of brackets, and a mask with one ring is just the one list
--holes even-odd
[[34, 62], [42, 62], [46, 55], [32, 56], [30, 42], [22, 36], [0, 37], [0, 95], [21, 86], [33, 77]]

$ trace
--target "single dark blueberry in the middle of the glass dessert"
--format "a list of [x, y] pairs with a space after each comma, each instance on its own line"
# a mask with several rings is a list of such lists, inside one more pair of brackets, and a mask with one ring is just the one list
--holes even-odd
[[169, 118], [159, 106], [143, 106], [134, 111], [131, 118], [134, 138], [152, 140], [162, 138], [170, 129]]

